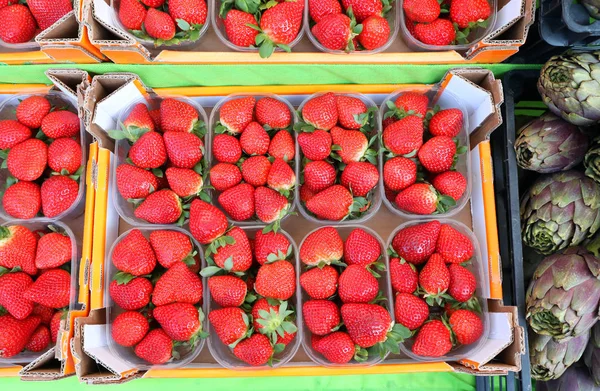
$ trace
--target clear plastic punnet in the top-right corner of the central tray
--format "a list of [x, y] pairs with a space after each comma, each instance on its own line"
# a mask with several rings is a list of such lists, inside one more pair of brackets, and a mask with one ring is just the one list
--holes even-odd
[[[442, 93], [442, 91], [443, 91], [443, 93]], [[399, 96], [401, 96], [402, 94], [404, 94], [406, 92], [424, 93], [425, 95], [427, 95], [427, 97], [429, 97], [429, 101], [430, 101], [429, 107], [434, 107], [434, 106], [438, 105], [438, 106], [440, 106], [441, 110], [456, 108], [456, 109], [459, 109], [462, 111], [463, 127], [462, 127], [462, 130], [460, 131], [460, 133], [458, 134], [458, 136], [456, 136], [455, 138], [458, 139], [460, 146], [467, 147], [467, 151], [461, 155], [458, 155], [459, 157], [458, 157], [458, 161], [456, 163], [456, 171], [463, 174], [464, 177], [467, 179], [467, 188], [465, 189], [465, 192], [462, 195], [462, 197], [456, 202], [456, 205], [453, 206], [451, 209], [449, 209], [445, 213], [437, 214], [437, 215], [417, 215], [417, 214], [405, 212], [405, 211], [399, 209], [398, 207], [396, 207], [395, 204], [392, 204], [392, 202], [390, 202], [390, 200], [388, 200], [387, 197], [385, 196], [385, 186], [383, 184], [383, 167], [385, 166], [385, 162], [387, 161], [387, 158], [385, 156], [383, 156], [385, 154], [380, 154], [380, 155], [382, 155], [381, 170], [379, 171], [379, 174], [380, 174], [379, 177], [380, 177], [380, 181], [381, 181], [381, 186], [380, 186], [381, 198], [383, 198], [383, 203], [385, 204], [385, 206], [387, 206], [387, 208], [389, 210], [391, 210], [393, 213], [397, 214], [398, 216], [401, 216], [404, 219], [408, 219], [408, 220], [434, 218], [435, 216], [445, 217], [445, 218], [454, 216], [458, 212], [460, 212], [462, 208], [464, 208], [464, 206], [467, 204], [467, 202], [471, 198], [471, 186], [472, 186], [471, 182], [472, 181], [471, 181], [471, 159], [469, 158], [469, 154], [471, 151], [471, 147], [469, 145], [469, 130], [468, 130], [469, 129], [469, 113], [468, 113], [467, 109], [464, 107], [464, 105], [460, 102], [459, 97], [457, 97], [450, 91], [443, 90], [442, 88], [440, 88], [439, 85], [433, 85], [427, 91], [422, 90], [422, 89], [421, 90], [412, 90], [410, 88], [407, 88], [407, 89], [400, 89], [400, 90], [392, 92], [390, 95], [388, 95], [384, 99], [383, 103], [381, 104], [381, 107], [379, 109], [380, 110], [379, 114], [380, 114], [381, 118], [383, 118], [385, 113], [389, 110], [386, 105], [386, 102], [388, 102], [388, 101], [395, 102]]]

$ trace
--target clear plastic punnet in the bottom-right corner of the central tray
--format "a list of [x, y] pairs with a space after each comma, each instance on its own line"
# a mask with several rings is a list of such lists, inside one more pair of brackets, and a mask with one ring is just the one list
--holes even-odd
[[[473, 273], [473, 275], [475, 276], [475, 280], [477, 281], [477, 289], [475, 290], [474, 296], [478, 298], [479, 303], [481, 304], [480, 318], [481, 318], [481, 321], [483, 322], [483, 334], [481, 335], [481, 337], [479, 338], [479, 340], [477, 342], [469, 344], [469, 345], [459, 346], [458, 348], [451, 350], [447, 355], [445, 355], [443, 357], [422, 357], [422, 356], [417, 356], [416, 354], [414, 354], [412, 352], [412, 345], [413, 345], [414, 339], [415, 339], [414, 337], [404, 341], [404, 343], [401, 343], [400, 350], [404, 354], [406, 354], [407, 356], [409, 356], [410, 358], [412, 358], [413, 360], [416, 360], [416, 361], [427, 361], [427, 362], [460, 361], [464, 358], [474, 355], [479, 350], [481, 350], [481, 348], [485, 344], [486, 340], [488, 339], [488, 335], [490, 333], [490, 321], [489, 321], [487, 300], [484, 298], [483, 292], [481, 289], [481, 287], [487, 283], [485, 280], [485, 269], [484, 269], [485, 266], [483, 264], [484, 260], [481, 257], [481, 250], [479, 248], [479, 242], [477, 241], [475, 234], [466, 225], [459, 223], [458, 221], [455, 221], [455, 220], [446, 220], [446, 219], [435, 219], [435, 220], [438, 220], [442, 224], [450, 225], [452, 228], [456, 229], [460, 233], [469, 237], [469, 239], [471, 240], [471, 243], [473, 243], [473, 249], [474, 249], [473, 257], [471, 258], [470, 264], [466, 265], [465, 267], [469, 271], [471, 271], [471, 273]], [[399, 225], [398, 228], [396, 228], [391, 233], [390, 237], [388, 238], [386, 248], [391, 247], [394, 237], [400, 230], [407, 228], [407, 227], [420, 225], [420, 224], [426, 223], [427, 221], [431, 221], [431, 220], [409, 221], [409, 222]], [[389, 273], [387, 274], [387, 276], [388, 276], [388, 281], [391, 284], [391, 278], [390, 278]]]

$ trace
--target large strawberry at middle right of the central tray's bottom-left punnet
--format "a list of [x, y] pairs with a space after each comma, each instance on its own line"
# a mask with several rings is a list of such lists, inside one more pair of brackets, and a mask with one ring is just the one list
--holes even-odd
[[[156, 306], [171, 303], [196, 304], [200, 300], [202, 300], [202, 280], [183, 262], [171, 266], [158, 279], [152, 293], [152, 303]], [[162, 326], [165, 328], [164, 325]], [[168, 330], [165, 331], [168, 333]]]

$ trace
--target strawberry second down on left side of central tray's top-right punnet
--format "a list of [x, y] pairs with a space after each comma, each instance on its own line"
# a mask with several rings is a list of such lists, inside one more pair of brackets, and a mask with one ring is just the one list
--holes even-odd
[[383, 145], [394, 155], [414, 155], [423, 145], [423, 120], [409, 115], [383, 130]]

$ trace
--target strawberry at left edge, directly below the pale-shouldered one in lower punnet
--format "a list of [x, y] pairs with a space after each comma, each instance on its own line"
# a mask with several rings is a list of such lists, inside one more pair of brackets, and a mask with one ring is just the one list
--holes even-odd
[[33, 312], [33, 303], [23, 297], [33, 284], [27, 273], [6, 273], [0, 276], [0, 305], [16, 319], [25, 319]]

